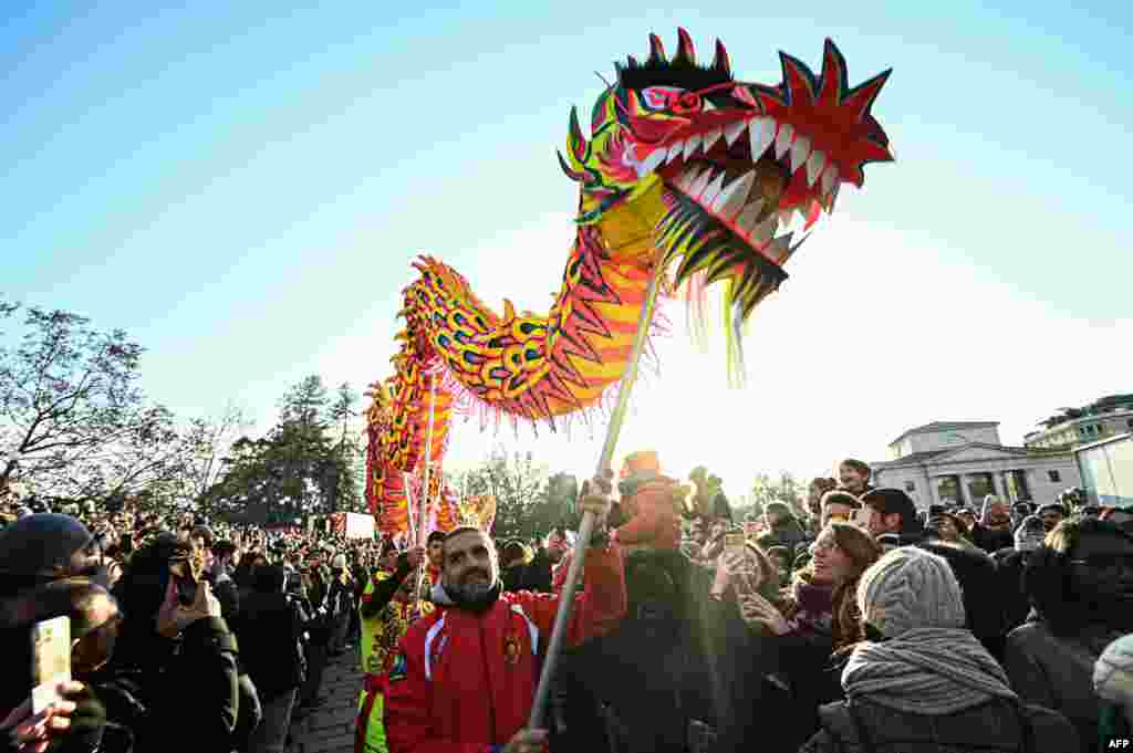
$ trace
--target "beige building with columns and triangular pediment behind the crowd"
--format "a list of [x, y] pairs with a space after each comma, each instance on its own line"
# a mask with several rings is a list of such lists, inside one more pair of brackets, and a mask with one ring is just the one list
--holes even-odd
[[909, 429], [888, 451], [888, 460], [870, 464], [874, 485], [904, 489], [920, 510], [979, 510], [989, 494], [1041, 504], [1082, 485], [1073, 452], [1004, 445], [997, 421], [934, 421]]

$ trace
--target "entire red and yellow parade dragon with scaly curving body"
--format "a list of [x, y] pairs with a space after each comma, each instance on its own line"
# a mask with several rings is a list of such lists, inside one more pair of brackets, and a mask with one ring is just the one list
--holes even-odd
[[[571, 110], [559, 161], [579, 185], [578, 214], [546, 315], [508, 300], [496, 313], [451, 267], [414, 264], [394, 374], [367, 393], [366, 493], [383, 530], [407, 528], [404, 485], [420, 484], [434, 380], [434, 469], [454, 411], [552, 428], [585, 413], [616, 391], [642, 309], [654, 316], [655, 273], [661, 296], [683, 298], [691, 320], [704, 317], [706, 289], [721, 290], [730, 376], [743, 374], [743, 325], [786, 280], [804, 233], [834, 211], [843, 185], [862, 186], [866, 164], [894, 159], [870, 113], [888, 70], [851, 87], [829, 40], [819, 74], [784, 53], [780, 61], [778, 85], [741, 82], [722, 43], [707, 63], [684, 29], [672, 57], [650, 35], [648, 57], [615, 63], [589, 137]], [[458, 510], [440, 476], [429, 498], [448, 528], [476, 511]]]

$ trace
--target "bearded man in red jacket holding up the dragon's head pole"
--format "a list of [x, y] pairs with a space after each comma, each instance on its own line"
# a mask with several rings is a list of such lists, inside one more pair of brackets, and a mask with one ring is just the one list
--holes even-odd
[[[610, 546], [604, 494], [581, 507], [598, 516], [586, 557], [586, 589], [576, 597], [566, 644], [608, 633], [625, 615], [621, 553]], [[526, 729], [542, 651], [551, 638], [557, 596], [502, 592], [492, 539], [475, 528], [445, 537], [437, 609], [415, 623], [387, 678], [385, 730], [390, 753], [538, 753], [546, 730]]]

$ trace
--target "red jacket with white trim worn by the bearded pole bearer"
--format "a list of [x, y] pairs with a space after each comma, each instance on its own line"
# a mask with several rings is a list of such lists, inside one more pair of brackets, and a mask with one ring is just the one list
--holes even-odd
[[[590, 550], [566, 644], [625, 616], [616, 547]], [[559, 597], [505, 592], [484, 614], [438, 605], [409, 627], [386, 679], [390, 753], [493, 753], [527, 725]]]

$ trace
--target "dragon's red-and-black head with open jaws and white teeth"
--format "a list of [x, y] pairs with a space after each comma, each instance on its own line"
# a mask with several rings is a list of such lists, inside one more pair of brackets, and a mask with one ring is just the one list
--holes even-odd
[[870, 114], [889, 71], [850, 87], [827, 40], [820, 75], [781, 53], [783, 82], [768, 86], [735, 80], [719, 42], [712, 65], [699, 63], [683, 28], [671, 59], [656, 35], [649, 46], [644, 62], [615, 66], [590, 138], [571, 111], [559, 160], [581, 186], [577, 222], [600, 226], [659, 189], [662, 263], [681, 258], [676, 284], [698, 272], [731, 280], [726, 300], [742, 322], [786, 279], [782, 265], [802, 242], [794, 231], [832, 212], [842, 183], [861, 187], [863, 165], [893, 161]]

